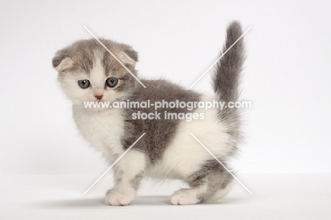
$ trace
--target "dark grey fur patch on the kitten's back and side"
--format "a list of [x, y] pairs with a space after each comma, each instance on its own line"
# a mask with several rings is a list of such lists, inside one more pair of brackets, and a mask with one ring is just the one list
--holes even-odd
[[[201, 95], [194, 91], [189, 91], [174, 83], [165, 80], [141, 80], [147, 88], [139, 87], [129, 100], [146, 101], [151, 100], [151, 103], [157, 101], [199, 101]], [[166, 146], [175, 137], [175, 131], [180, 120], [165, 120], [165, 111], [175, 113], [190, 112], [186, 108], [161, 108], [158, 109], [160, 113], [160, 120], [132, 120], [133, 112], [155, 112], [154, 108], [132, 108], [124, 110], [124, 116], [127, 117], [125, 121], [124, 137], [122, 144], [124, 149], [129, 148], [134, 141], [136, 141], [142, 133], [146, 133], [145, 137], [141, 139], [134, 149], [144, 151], [149, 156], [149, 162], [155, 163], [161, 159]]]

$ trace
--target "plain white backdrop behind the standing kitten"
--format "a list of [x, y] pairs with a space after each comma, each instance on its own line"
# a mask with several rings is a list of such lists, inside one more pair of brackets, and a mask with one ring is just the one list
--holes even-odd
[[[99, 37], [132, 45], [141, 76], [190, 86], [243, 28], [246, 142], [241, 173], [331, 172], [330, 1], [3, 1], [0, 174], [95, 174], [107, 165], [76, 131], [54, 52]], [[194, 86], [211, 92], [207, 74]]]

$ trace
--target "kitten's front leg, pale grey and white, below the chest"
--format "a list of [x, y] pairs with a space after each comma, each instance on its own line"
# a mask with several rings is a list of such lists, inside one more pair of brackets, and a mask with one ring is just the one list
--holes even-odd
[[105, 204], [128, 205], [136, 197], [144, 176], [145, 156], [140, 151], [130, 150], [118, 161], [114, 169], [115, 186], [108, 190]]

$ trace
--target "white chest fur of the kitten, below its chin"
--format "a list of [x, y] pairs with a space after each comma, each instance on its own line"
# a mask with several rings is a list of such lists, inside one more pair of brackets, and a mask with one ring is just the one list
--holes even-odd
[[124, 152], [124, 119], [118, 109], [89, 110], [73, 106], [73, 115], [83, 137], [113, 161]]

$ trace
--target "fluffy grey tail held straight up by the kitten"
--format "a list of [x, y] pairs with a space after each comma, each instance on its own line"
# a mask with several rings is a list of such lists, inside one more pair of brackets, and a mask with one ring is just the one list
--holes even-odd
[[[239, 96], [239, 78], [245, 59], [243, 38], [238, 40], [241, 35], [243, 35], [243, 30], [240, 23], [238, 21], [231, 22], [226, 30], [226, 43], [221, 54], [228, 51], [216, 64], [216, 71], [213, 76], [214, 92], [221, 101], [226, 103], [236, 102]], [[236, 44], [233, 45], [234, 42]], [[231, 45], [233, 46], [231, 47]]]

